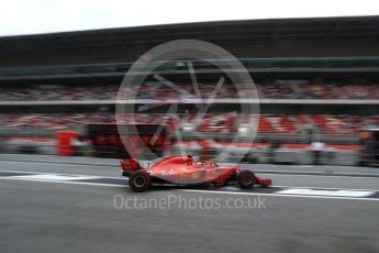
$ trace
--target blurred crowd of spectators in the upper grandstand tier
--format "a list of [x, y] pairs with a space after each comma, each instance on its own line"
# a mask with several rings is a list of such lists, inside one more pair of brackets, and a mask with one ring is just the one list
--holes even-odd
[[[115, 100], [119, 85], [30, 85], [1, 86], [0, 101], [55, 101], [55, 100]], [[215, 84], [199, 84], [202, 98], [209, 98]], [[186, 100], [197, 99], [190, 84], [170, 86], [158, 81], [123, 89], [124, 99]], [[224, 84], [215, 98], [268, 99], [379, 99], [378, 84], [311, 82], [308, 80], [261, 80], [256, 88]]]

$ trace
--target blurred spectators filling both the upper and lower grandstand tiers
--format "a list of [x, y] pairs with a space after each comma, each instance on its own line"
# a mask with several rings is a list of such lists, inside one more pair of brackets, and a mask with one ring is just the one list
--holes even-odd
[[[199, 84], [203, 99], [212, 97], [215, 84]], [[69, 100], [112, 100], [118, 97], [120, 85], [24, 85], [0, 86], [1, 101], [69, 101]], [[378, 84], [322, 82], [309, 80], [260, 80], [256, 90], [224, 84], [216, 90], [216, 99], [224, 98], [267, 98], [267, 99], [379, 99]], [[182, 101], [197, 99], [196, 87], [188, 82], [163, 84], [145, 81], [140, 87], [123, 90], [123, 99], [152, 99]], [[182, 131], [235, 132], [238, 125], [253, 124], [253, 120], [238, 121], [233, 114], [207, 114], [193, 127], [193, 114], [181, 114], [172, 120], [163, 114], [124, 116], [123, 123], [180, 122]], [[379, 125], [379, 117], [332, 116], [332, 114], [264, 114], [259, 117], [258, 133], [297, 134], [308, 130], [325, 134], [354, 134], [365, 125]], [[114, 123], [113, 114], [103, 113], [0, 113], [1, 131], [57, 132], [78, 130], [88, 123]]]

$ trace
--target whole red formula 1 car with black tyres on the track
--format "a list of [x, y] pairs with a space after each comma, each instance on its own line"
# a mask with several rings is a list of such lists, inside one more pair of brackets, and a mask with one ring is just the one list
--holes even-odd
[[193, 163], [191, 156], [170, 156], [152, 162], [142, 167], [135, 158], [121, 162], [123, 176], [134, 191], [145, 191], [152, 184], [174, 184], [180, 186], [223, 186], [236, 182], [241, 188], [253, 188], [254, 185], [268, 187], [271, 179], [263, 179], [250, 170], [242, 170], [239, 166], [220, 167], [213, 161]]

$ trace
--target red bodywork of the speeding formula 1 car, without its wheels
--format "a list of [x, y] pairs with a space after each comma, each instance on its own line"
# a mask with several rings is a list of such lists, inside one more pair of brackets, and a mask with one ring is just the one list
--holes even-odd
[[[180, 185], [192, 184], [218, 184], [222, 185], [231, 180], [236, 180], [236, 176], [242, 172], [239, 166], [221, 167], [213, 161], [193, 163], [191, 157], [170, 156], [161, 158], [149, 167], [142, 168], [134, 158], [121, 162], [123, 175], [129, 176], [134, 170], [143, 169], [152, 178], [164, 183], [174, 183]], [[271, 179], [263, 179], [255, 176], [255, 184], [270, 186]]]

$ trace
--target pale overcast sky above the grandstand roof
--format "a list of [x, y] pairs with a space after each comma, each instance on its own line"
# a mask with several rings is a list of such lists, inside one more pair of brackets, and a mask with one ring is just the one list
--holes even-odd
[[2, 0], [0, 36], [216, 20], [376, 14], [378, 0]]

